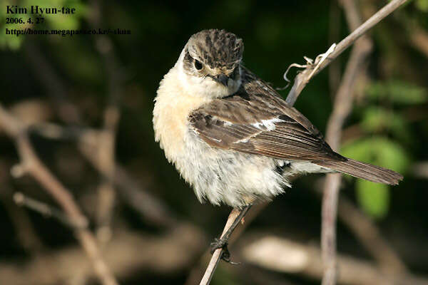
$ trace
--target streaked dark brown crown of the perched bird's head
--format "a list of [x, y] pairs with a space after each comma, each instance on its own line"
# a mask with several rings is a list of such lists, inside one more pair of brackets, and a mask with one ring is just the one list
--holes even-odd
[[243, 50], [243, 40], [225, 30], [200, 31], [188, 41], [190, 56], [210, 68], [235, 68], [242, 59]]

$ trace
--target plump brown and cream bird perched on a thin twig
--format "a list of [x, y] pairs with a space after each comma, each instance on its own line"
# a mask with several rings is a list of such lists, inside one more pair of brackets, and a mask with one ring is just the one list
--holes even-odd
[[334, 152], [304, 115], [243, 66], [243, 49], [233, 33], [195, 33], [158, 88], [156, 142], [200, 202], [242, 208], [281, 194], [300, 173], [402, 180]]

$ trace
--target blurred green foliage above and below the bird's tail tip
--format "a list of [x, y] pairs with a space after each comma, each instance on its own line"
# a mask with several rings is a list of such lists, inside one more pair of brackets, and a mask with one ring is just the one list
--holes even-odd
[[[365, 136], [344, 145], [342, 155], [407, 173], [412, 159], [403, 145], [411, 145], [414, 135], [409, 130], [409, 120], [399, 110], [427, 103], [427, 88], [397, 80], [377, 81], [367, 85], [365, 94], [367, 102], [360, 118]], [[384, 137], [388, 134], [392, 138]], [[367, 214], [378, 219], [387, 215], [387, 185], [357, 180], [356, 187], [357, 200]]]

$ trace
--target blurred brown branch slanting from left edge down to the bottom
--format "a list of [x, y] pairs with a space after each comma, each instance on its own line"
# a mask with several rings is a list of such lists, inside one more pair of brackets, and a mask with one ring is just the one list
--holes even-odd
[[[87, 224], [86, 217], [83, 216], [81, 209], [71, 196], [71, 192], [67, 190], [61, 182], [59, 182], [48, 168], [39, 160], [36, 152], [34, 152], [31, 142], [26, 134], [24, 125], [19, 120], [14, 118], [0, 104], [0, 125], [7, 135], [14, 138], [16, 147], [21, 157], [21, 167], [26, 173], [33, 176], [34, 179], [49, 192], [61, 205], [69, 219], [76, 224]], [[106, 262], [101, 257], [96, 239], [87, 227], [76, 229], [76, 237], [81, 243], [81, 246], [86, 251], [86, 254], [91, 259], [93, 269], [98, 276], [98, 279], [103, 285], [118, 284], [111, 271], [108, 269]]]

